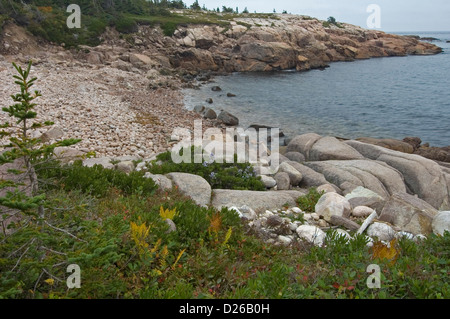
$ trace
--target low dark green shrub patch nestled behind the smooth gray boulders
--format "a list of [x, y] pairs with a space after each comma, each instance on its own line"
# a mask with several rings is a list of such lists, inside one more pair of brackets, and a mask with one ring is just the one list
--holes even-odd
[[[200, 154], [203, 152], [200, 152]], [[180, 151], [180, 155], [182, 155]], [[213, 189], [266, 190], [260, 177], [257, 177], [249, 163], [216, 163], [213, 158], [201, 163], [194, 162], [195, 148], [191, 148], [191, 163], [175, 164], [170, 152], [159, 154], [157, 159], [147, 165], [152, 174], [171, 172], [190, 173], [203, 177]], [[207, 154], [209, 157], [209, 154]]]

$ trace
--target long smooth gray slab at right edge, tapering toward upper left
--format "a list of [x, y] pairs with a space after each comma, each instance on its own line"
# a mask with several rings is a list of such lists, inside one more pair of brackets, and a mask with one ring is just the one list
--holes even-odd
[[405, 154], [380, 146], [346, 141], [365, 157], [388, 164], [399, 171], [409, 192], [436, 209], [450, 209], [450, 184], [443, 169], [436, 162], [419, 155]]

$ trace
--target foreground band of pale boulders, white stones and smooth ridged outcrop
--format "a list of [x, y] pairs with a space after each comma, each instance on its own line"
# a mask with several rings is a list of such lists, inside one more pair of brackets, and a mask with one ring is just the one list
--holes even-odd
[[[306, 239], [320, 246], [329, 229], [349, 239], [349, 232], [365, 232], [369, 243], [376, 238], [418, 240], [450, 231], [450, 172], [439, 162], [314, 133], [296, 136], [287, 149], [305, 160], [280, 160], [274, 174], [261, 176], [266, 191], [212, 189], [202, 177], [185, 173], [145, 177], [162, 189], [176, 186], [198, 205], [236, 210], [270, 243]], [[145, 169], [154, 158], [135, 167], [129, 157], [87, 159], [84, 165], [129, 172]], [[314, 212], [302, 211], [297, 199], [311, 187], [322, 194]]]

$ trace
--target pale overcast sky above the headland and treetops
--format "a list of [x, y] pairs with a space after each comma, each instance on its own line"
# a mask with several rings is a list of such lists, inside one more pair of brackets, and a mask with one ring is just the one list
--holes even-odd
[[[185, 0], [190, 5], [194, 0]], [[322, 20], [333, 16], [338, 21], [367, 27], [370, 4], [381, 8], [381, 30], [383, 31], [450, 31], [449, 0], [199, 0], [208, 9], [223, 5], [248, 8], [250, 12], [305, 14]]]

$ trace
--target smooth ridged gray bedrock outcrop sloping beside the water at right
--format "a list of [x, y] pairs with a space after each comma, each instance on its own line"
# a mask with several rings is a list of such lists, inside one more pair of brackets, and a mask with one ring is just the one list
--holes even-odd
[[[385, 146], [392, 148], [395, 143], [388, 144]], [[414, 147], [406, 142], [397, 145], [405, 147], [403, 151], [408, 147], [414, 151]], [[383, 200], [394, 194], [412, 194], [435, 209], [448, 209], [450, 205], [449, 168], [422, 156], [356, 140], [340, 141], [315, 133], [294, 137], [286, 150], [299, 152], [305, 157], [303, 164], [288, 163], [303, 174], [308, 186], [319, 186], [314, 184], [320, 181], [320, 185], [336, 185], [344, 195], [362, 187]], [[358, 206], [374, 204], [374, 207], [381, 208], [376, 204], [379, 200], [371, 201], [360, 199]]]

